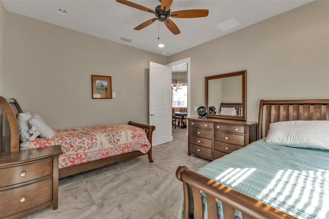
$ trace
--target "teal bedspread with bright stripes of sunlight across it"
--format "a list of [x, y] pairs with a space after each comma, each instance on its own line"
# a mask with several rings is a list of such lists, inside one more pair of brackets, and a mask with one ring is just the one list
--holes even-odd
[[329, 218], [329, 150], [261, 139], [197, 172], [297, 218]]

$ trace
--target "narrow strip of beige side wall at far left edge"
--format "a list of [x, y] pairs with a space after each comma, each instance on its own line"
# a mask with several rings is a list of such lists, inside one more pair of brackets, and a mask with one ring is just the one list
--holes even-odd
[[3, 75], [6, 69], [6, 15], [7, 11], [0, 1], [0, 95], [3, 93]]

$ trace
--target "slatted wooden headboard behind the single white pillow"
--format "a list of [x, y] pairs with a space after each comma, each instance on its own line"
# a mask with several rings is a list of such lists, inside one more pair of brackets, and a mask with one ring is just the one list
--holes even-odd
[[259, 138], [267, 136], [270, 123], [291, 120], [329, 120], [329, 100], [261, 100]]

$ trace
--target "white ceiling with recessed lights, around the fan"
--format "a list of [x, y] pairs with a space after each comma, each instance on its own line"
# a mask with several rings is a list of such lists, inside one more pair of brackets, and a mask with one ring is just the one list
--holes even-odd
[[[2, 0], [7, 11], [165, 56], [171, 56], [312, 1], [174, 0], [171, 11], [209, 9], [207, 17], [171, 18], [181, 31], [180, 34], [174, 35], [162, 22], [154, 22], [142, 30], [134, 30], [139, 24], [152, 19], [154, 14], [117, 3], [115, 0]], [[158, 0], [131, 2], [153, 10], [160, 5]], [[66, 9], [69, 14], [61, 15], [56, 11], [57, 8]], [[231, 17], [241, 25], [224, 33], [214, 28]], [[134, 41], [127, 43], [119, 40], [120, 36]], [[159, 43], [165, 47], [157, 47]]]

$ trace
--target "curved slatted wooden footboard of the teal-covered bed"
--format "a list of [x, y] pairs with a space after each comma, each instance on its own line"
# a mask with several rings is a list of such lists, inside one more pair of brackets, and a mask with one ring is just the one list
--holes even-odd
[[176, 177], [183, 184], [184, 219], [203, 218], [203, 192], [207, 198], [208, 218], [218, 218], [217, 200], [222, 202], [224, 218], [235, 218], [234, 209], [242, 213], [243, 219], [296, 218], [191, 171], [185, 166], [177, 168]]

